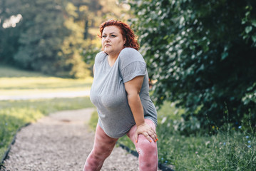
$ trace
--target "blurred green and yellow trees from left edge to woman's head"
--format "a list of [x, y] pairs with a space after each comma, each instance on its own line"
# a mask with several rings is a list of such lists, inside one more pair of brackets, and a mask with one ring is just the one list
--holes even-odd
[[127, 20], [128, 4], [115, 0], [0, 1], [1, 63], [53, 76], [85, 78], [85, 56], [100, 48], [99, 26]]

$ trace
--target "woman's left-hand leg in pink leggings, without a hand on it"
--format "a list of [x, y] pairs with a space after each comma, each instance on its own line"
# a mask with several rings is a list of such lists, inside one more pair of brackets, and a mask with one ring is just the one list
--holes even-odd
[[108, 137], [102, 128], [97, 125], [93, 150], [86, 159], [83, 171], [101, 170], [104, 160], [111, 154], [117, 140]]

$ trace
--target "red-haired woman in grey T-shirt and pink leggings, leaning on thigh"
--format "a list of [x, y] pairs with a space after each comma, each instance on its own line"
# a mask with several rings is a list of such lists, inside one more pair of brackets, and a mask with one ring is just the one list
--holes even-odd
[[148, 94], [148, 73], [133, 31], [121, 21], [100, 27], [102, 49], [93, 66], [91, 101], [98, 125], [83, 170], [101, 170], [118, 138], [128, 135], [139, 154], [140, 171], [158, 167], [157, 114]]

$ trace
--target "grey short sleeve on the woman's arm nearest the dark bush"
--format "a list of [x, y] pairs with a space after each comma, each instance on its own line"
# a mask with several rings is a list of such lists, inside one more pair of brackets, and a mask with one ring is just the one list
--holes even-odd
[[121, 70], [121, 76], [123, 78], [123, 83], [126, 83], [136, 76], [145, 76], [146, 66], [145, 63], [140, 61], [135, 61], [130, 63], [128, 66]]

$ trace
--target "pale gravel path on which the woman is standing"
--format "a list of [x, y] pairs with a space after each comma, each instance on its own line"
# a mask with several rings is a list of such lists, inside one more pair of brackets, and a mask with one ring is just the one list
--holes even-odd
[[[93, 110], [53, 113], [21, 129], [4, 161], [5, 170], [82, 170], [93, 147], [94, 133], [85, 124]], [[115, 147], [102, 170], [138, 170], [138, 158]]]

